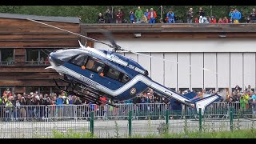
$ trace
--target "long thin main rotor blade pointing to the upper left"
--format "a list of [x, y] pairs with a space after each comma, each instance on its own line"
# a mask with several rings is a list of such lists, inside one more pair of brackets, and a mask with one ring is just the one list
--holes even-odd
[[46, 24], [46, 23], [44, 23], [44, 22], [35, 21], [34, 19], [30, 19], [30, 18], [26, 18], [26, 19], [29, 20], [29, 21], [32, 21], [32, 22], [40, 23], [40, 24], [42, 24], [42, 25], [46, 25], [46, 26], [53, 27], [53, 28], [58, 29], [58, 30], [66, 31], [66, 32], [68, 32], [68, 33], [70, 33], [70, 34], [78, 35], [79, 37], [86, 38], [86, 39], [88, 39], [88, 40], [90, 40], [90, 41], [93, 41], [93, 42], [99, 42], [99, 43], [102, 43], [102, 44], [104, 44], [104, 45], [106, 45], [106, 46], [113, 47], [112, 45], [110, 45], [110, 44], [108, 44], [108, 43], [106, 43], [106, 42], [98, 41], [97, 39], [89, 38], [89, 37], [86, 37], [86, 36], [84, 36], [84, 35], [82, 35], [82, 34], [76, 34], [76, 33], [72, 32], [72, 31], [64, 30], [64, 29], [61, 29], [61, 28], [59, 28], [59, 27], [57, 27], [57, 26], [51, 26], [51, 25]]

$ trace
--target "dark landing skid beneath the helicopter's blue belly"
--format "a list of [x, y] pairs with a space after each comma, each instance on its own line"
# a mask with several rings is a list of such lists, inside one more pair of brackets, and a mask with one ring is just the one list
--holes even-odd
[[[107, 105], [118, 107], [117, 105], [114, 105], [111, 102], [102, 101], [101, 99], [99, 99], [100, 96], [98, 94], [94, 93], [94, 92], [91, 92], [91, 91], [87, 90], [89, 92], [89, 94], [85, 94], [84, 92], [82, 92], [80, 90], [77, 90], [75, 88], [74, 82], [72, 82], [72, 81], [67, 81], [67, 80], [62, 79], [62, 78], [58, 78], [58, 79], [62, 80], [63, 82], [69, 83], [69, 85], [66, 87], [66, 89], [62, 89], [62, 87], [58, 86], [58, 82], [56, 82], [56, 80], [54, 79], [54, 82], [55, 82], [56, 86], [58, 87], [58, 89], [65, 91], [67, 94], [72, 94], [72, 95], [78, 96], [80, 98], [84, 98], [86, 101], [92, 102], [96, 105], [101, 105], [102, 103], [106, 103]], [[70, 88], [70, 86], [71, 86], [72, 90], [68, 90]], [[92, 93], [92, 94], [90, 94], [90, 93]]]

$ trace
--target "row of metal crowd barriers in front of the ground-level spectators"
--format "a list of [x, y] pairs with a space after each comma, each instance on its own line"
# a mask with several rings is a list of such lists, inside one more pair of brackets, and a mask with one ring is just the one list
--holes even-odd
[[[0, 106], [0, 120], [2, 121], [56, 121], [66, 119], [88, 119], [90, 112], [94, 111], [96, 119], [127, 119], [129, 111], [136, 120], [164, 119], [166, 110], [170, 117], [194, 118], [196, 111], [188, 106], [182, 110], [171, 110], [165, 103], [138, 103], [118, 104], [118, 108], [105, 105], [49, 105], [49, 106]], [[256, 102], [247, 102], [242, 106], [240, 102], [214, 102], [205, 110], [206, 118], [228, 118], [230, 107], [234, 108], [234, 117], [252, 117], [256, 114]]]

